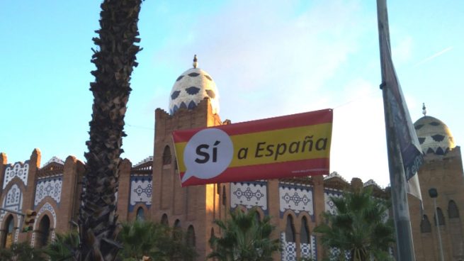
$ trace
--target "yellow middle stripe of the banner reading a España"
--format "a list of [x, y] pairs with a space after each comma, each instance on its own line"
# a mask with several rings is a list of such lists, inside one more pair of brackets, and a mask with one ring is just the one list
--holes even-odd
[[[230, 139], [234, 157], [229, 167], [323, 158], [330, 154], [332, 123], [232, 135]], [[175, 144], [181, 172], [186, 171], [183, 162], [186, 145], [186, 142]]]

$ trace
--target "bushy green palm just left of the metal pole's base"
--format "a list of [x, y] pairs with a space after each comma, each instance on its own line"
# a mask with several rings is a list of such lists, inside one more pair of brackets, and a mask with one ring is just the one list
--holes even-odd
[[[336, 213], [322, 214], [325, 223], [315, 228], [321, 234], [324, 247], [337, 250], [350, 260], [390, 260], [388, 250], [395, 243], [392, 221], [385, 222], [387, 201], [375, 198], [371, 189], [344, 192], [340, 198], [332, 197]], [[342, 257], [336, 257], [343, 260]]]

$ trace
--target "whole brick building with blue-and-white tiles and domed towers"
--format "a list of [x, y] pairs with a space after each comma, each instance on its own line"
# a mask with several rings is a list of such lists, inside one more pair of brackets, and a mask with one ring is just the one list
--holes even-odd
[[[176, 79], [169, 97], [169, 113], [162, 109], [155, 111], [154, 157], [135, 165], [125, 159], [121, 165], [117, 196], [120, 221], [144, 218], [181, 227], [186, 231], [188, 244], [195, 245], [200, 255], [198, 260], [204, 260], [210, 251], [208, 240], [211, 235], [220, 234], [213, 220], [227, 218], [233, 209], [256, 206], [260, 216], [272, 216], [277, 227], [275, 236], [281, 238], [283, 252], [276, 255], [276, 260], [296, 260], [297, 257], [322, 260], [322, 246], [312, 231], [321, 221], [320, 213], [335, 211], [329, 196], [341, 196], [344, 189], [360, 186], [373, 187], [377, 196], [388, 196], [373, 180], [346, 182], [336, 172], [327, 177], [181, 188], [171, 132], [230, 124], [230, 121], [220, 119], [218, 99], [213, 78], [197, 68], [196, 62], [193, 68]], [[432, 128], [436, 127], [434, 122], [441, 124], [441, 128]], [[460, 148], [455, 147], [451, 133], [441, 121], [426, 116], [415, 124], [419, 139], [424, 138], [421, 140], [426, 152], [426, 164], [419, 172], [426, 214], [424, 221], [421, 221], [418, 205], [410, 203], [417, 260], [438, 260], [434, 207], [426, 196], [432, 185], [440, 194], [438, 227], [442, 231], [446, 260], [462, 260], [463, 223], [460, 216], [463, 215], [460, 211], [464, 207], [464, 184]], [[420, 125], [425, 127], [420, 128]], [[447, 133], [446, 137], [443, 133]], [[443, 135], [441, 141], [451, 140], [452, 145], [436, 145], [434, 140], [440, 139], [436, 135]], [[427, 139], [430, 137], [432, 140]], [[6, 154], [0, 154], [1, 207], [38, 212], [33, 231], [21, 233], [20, 217], [0, 211], [0, 248], [23, 240], [40, 247], [53, 240], [55, 233], [69, 231], [75, 226], [84, 163], [72, 156], [64, 161], [54, 157], [40, 166], [38, 149], [33, 150], [25, 162], [13, 164], [7, 162]], [[414, 199], [409, 201], [414, 202]]]

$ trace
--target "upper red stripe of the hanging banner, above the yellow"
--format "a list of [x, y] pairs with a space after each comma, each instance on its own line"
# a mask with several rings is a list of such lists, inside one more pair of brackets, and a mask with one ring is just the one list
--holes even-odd
[[[275, 118], [264, 118], [256, 121], [246, 121], [242, 123], [233, 123], [230, 125], [214, 126], [224, 130], [228, 135], [239, 135], [244, 133], [257, 133], [267, 130], [280, 130], [283, 128], [295, 128], [321, 123], [332, 123], [333, 110], [324, 109], [320, 111], [310, 111], [288, 116]], [[195, 133], [204, 128], [194, 128], [191, 130], [176, 130], [172, 133], [175, 143], [182, 143], [190, 140]]]

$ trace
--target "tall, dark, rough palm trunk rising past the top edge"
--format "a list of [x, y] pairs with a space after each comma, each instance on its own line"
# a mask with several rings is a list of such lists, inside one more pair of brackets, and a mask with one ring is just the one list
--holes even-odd
[[101, 29], [94, 43], [91, 74], [94, 94], [90, 140], [86, 145], [85, 193], [79, 211], [80, 248], [77, 260], [114, 260], [120, 245], [115, 194], [121, 145], [125, 136], [124, 116], [130, 94], [130, 74], [137, 66], [135, 55], [140, 48], [137, 21], [142, 0], [111, 1], [101, 4]]

